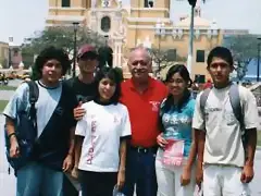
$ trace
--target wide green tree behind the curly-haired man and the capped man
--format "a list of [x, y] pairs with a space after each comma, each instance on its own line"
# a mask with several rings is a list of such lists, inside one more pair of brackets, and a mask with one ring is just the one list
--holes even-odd
[[[101, 47], [104, 46], [105, 39], [103, 36], [86, 29], [85, 27], [78, 27], [76, 48], [84, 44]], [[26, 39], [25, 44], [22, 45], [22, 56], [25, 66], [32, 66], [34, 64], [34, 57], [44, 48], [50, 46], [63, 48], [72, 54], [74, 50], [74, 28], [67, 26], [48, 27], [42, 32], [35, 33], [33, 37]]]

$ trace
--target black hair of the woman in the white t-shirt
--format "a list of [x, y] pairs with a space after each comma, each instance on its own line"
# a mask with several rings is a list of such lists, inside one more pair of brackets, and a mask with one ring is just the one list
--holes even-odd
[[121, 83], [122, 83], [122, 77], [119, 73], [119, 71], [114, 68], [108, 68], [104, 66], [101, 70], [99, 70], [96, 74], [96, 84], [97, 84], [97, 94], [96, 94], [96, 99], [100, 96], [99, 95], [99, 83], [103, 78], [110, 78], [113, 81], [116, 85], [116, 89], [114, 95], [112, 96], [110, 102], [116, 105], [119, 103], [120, 97], [121, 97]]

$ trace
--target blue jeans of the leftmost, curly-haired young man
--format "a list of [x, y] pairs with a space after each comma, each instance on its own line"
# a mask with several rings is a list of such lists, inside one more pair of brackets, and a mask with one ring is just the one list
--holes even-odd
[[17, 171], [16, 196], [63, 196], [63, 172], [30, 162]]

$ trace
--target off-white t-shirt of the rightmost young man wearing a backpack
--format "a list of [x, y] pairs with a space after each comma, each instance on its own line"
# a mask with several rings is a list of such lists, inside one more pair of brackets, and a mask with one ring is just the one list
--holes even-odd
[[[240, 103], [246, 128], [258, 127], [258, 107], [252, 93], [239, 86]], [[219, 163], [243, 167], [245, 152], [241, 143], [240, 124], [229, 100], [229, 87], [212, 88], [206, 102], [204, 163]], [[200, 96], [197, 96], [192, 127], [204, 130], [204, 119], [200, 110]]]

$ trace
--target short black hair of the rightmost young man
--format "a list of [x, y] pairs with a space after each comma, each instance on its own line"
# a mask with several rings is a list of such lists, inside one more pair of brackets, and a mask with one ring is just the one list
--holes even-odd
[[231, 66], [234, 65], [232, 52], [228, 48], [220, 47], [220, 46], [213, 48], [208, 56], [208, 60], [207, 60], [208, 68], [211, 64], [213, 58], [221, 58], [221, 59], [225, 60]]

